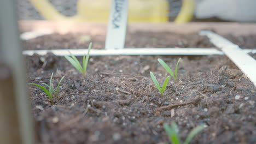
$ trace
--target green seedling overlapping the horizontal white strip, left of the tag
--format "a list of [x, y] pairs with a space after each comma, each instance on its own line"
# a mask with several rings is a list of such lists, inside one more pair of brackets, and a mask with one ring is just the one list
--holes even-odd
[[75, 67], [75, 69], [80, 71], [80, 73], [83, 74], [84, 77], [86, 75], [86, 69], [87, 69], [87, 64], [88, 64], [88, 60], [89, 60], [89, 53], [90, 53], [91, 45], [92, 44], [90, 43], [86, 57], [85, 57], [85, 55], [83, 57], [83, 67], [79, 63], [78, 59], [71, 52], [69, 52], [71, 57], [65, 56], [65, 58]]

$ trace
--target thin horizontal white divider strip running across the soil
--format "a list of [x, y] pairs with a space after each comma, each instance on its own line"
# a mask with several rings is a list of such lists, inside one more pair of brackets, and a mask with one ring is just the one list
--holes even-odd
[[[245, 49], [245, 53], [256, 53], [256, 50]], [[73, 50], [26, 50], [23, 55], [32, 56], [33, 54], [46, 55], [52, 52], [56, 56], [66, 56], [71, 52], [74, 56], [86, 55], [88, 49]], [[224, 53], [211, 48], [125, 48], [120, 50], [97, 50], [91, 49], [90, 56], [114, 56], [114, 55], [223, 55]]]

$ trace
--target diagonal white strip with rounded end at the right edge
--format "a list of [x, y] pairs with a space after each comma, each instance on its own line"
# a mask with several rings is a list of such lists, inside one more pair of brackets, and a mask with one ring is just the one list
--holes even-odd
[[238, 45], [231, 43], [229, 40], [211, 31], [201, 31], [200, 35], [206, 35], [210, 41], [219, 49], [221, 49], [238, 68], [240, 68], [245, 75], [256, 86], [256, 60], [248, 55], [245, 51], [240, 49]]

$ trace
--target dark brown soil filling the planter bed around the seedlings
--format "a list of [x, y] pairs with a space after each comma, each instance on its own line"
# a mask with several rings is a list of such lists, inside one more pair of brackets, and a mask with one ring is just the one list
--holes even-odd
[[[167, 35], [165, 38], [149, 33], [148, 37], [154, 38], [152, 35], [160, 38], [153, 43], [136, 36], [134, 41], [126, 41], [126, 45], [177, 45]], [[89, 41], [80, 48], [72, 47], [75, 45], [69, 39], [72, 37], [73, 41], [77, 38], [48, 35], [26, 41], [24, 49], [36, 49], [36, 45], [41, 45], [40, 49], [63, 49], [65, 43], [66, 49], [88, 46]], [[183, 39], [186, 37], [177, 36], [177, 41], [189, 40], [196, 47], [212, 46], [206, 43], [208, 40], [198, 43], [194, 37]], [[103, 45], [100, 38], [93, 42]], [[55, 104], [50, 104], [42, 90], [29, 86], [39, 143], [160, 144], [168, 142], [162, 124], [171, 122], [178, 124], [182, 140], [196, 125], [205, 125], [191, 143], [256, 143], [256, 88], [227, 57], [181, 57], [178, 81], [170, 79], [164, 98], [149, 76], [149, 71], [153, 71], [162, 83], [168, 75], [157, 58], [164, 59], [173, 69], [179, 57], [94, 56], [90, 57], [85, 79], [63, 57], [50, 54], [26, 57], [28, 83], [49, 83], [54, 72], [56, 86], [61, 76], [65, 76], [60, 99], [55, 98]], [[164, 109], [165, 106], [172, 109]]]

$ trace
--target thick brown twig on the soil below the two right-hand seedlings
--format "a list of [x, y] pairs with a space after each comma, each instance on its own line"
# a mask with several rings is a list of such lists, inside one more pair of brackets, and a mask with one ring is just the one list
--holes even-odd
[[156, 112], [156, 114], [161, 114], [162, 111], [168, 111], [168, 110], [173, 109], [174, 107], [184, 106], [184, 105], [189, 105], [189, 104], [197, 104], [197, 103], [199, 103], [200, 100], [201, 100], [200, 97], [196, 97], [195, 99], [189, 100], [184, 103], [177, 103], [177, 104], [162, 106], [162, 107], [159, 107], [158, 109], [156, 109], [155, 112]]

